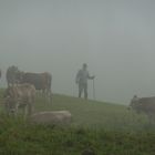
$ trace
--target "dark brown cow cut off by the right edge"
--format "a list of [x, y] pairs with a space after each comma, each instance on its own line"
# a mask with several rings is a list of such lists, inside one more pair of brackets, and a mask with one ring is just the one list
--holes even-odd
[[130, 107], [136, 111], [136, 113], [145, 113], [149, 121], [155, 118], [155, 96], [151, 97], [134, 97], [131, 101]]

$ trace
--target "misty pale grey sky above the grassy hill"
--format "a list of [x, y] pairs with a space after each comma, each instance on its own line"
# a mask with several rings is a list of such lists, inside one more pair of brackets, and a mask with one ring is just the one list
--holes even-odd
[[155, 95], [155, 1], [0, 0], [0, 86], [14, 64], [51, 72], [54, 93], [76, 96], [83, 63], [96, 75], [97, 100]]

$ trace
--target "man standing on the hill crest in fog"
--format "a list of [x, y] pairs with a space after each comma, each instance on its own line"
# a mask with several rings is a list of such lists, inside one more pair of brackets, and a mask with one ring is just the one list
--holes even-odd
[[84, 99], [87, 100], [87, 80], [93, 80], [95, 76], [90, 76], [86, 63], [76, 74], [76, 84], [79, 84], [79, 97], [84, 90]]

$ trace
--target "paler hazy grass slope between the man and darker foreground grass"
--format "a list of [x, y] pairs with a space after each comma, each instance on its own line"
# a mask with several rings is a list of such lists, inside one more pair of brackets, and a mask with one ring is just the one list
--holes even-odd
[[69, 110], [73, 115], [73, 124], [107, 130], [141, 130], [147, 126], [145, 115], [136, 115], [127, 106], [95, 101], [85, 101], [64, 95], [54, 95], [53, 103], [44, 103], [39, 97], [37, 111]]

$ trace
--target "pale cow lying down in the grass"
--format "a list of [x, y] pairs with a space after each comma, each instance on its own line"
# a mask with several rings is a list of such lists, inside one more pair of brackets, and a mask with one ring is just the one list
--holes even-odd
[[30, 122], [37, 124], [62, 125], [71, 123], [72, 115], [69, 111], [46, 111], [33, 114]]

